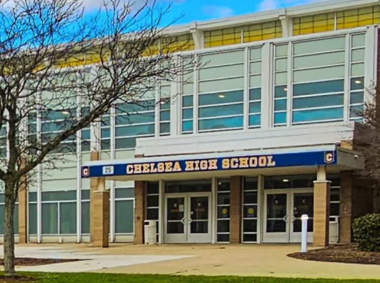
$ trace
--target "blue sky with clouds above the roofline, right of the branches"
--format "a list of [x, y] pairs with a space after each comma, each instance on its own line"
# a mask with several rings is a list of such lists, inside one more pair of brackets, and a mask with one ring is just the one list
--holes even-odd
[[[97, 6], [101, 0], [84, 0], [87, 8]], [[143, 2], [144, 0], [134, 0]], [[255, 11], [272, 10], [300, 4], [316, 3], [326, 0], [156, 0], [163, 4], [172, 3], [167, 16], [183, 15], [176, 24], [205, 21], [228, 16], [236, 16]]]

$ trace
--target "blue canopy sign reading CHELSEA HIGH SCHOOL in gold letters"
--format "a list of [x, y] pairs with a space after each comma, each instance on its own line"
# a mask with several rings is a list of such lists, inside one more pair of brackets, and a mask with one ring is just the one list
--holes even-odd
[[336, 151], [306, 151], [82, 166], [83, 178], [336, 164]]

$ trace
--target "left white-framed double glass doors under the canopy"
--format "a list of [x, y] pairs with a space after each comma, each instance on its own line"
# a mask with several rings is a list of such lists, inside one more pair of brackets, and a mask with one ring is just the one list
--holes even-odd
[[165, 197], [165, 243], [211, 243], [211, 194]]

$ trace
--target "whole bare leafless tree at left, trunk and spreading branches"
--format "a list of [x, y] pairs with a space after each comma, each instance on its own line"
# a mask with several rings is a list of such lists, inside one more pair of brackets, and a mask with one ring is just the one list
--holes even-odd
[[15, 201], [35, 168], [43, 163], [52, 169], [57, 160], [74, 154], [80, 130], [111, 107], [126, 113], [155, 107], [157, 85], [182, 76], [178, 52], [189, 43], [163, 35], [176, 20], [163, 21], [169, 8], [154, 0], [110, 0], [97, 13], [86, 14], [80, 0], [1, 2], [6, 276], [15, 274]]

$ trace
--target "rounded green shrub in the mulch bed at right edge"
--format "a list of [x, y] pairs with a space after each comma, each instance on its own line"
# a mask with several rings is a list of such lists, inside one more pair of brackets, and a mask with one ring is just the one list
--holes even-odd
[[355, 242], [363, 252], [380, 252], [380, 214], [359, 217], [352, 224]]

